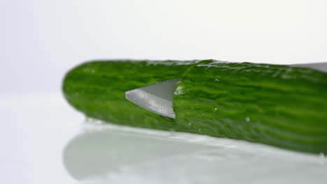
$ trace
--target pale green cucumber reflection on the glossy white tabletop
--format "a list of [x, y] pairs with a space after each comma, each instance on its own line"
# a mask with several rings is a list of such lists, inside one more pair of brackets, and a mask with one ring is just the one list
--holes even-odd
[[245, 141], [116, 125], [86, 125], [64, 148], [73, 178], [109, 183], [319, 183], [324, 162]]

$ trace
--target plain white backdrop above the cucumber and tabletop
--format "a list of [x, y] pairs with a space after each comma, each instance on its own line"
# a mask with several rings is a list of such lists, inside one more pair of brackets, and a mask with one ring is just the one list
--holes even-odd
[[325, 0], [0, 1], [1, 91], [54, 91], [92, 59], [327, 61]]

